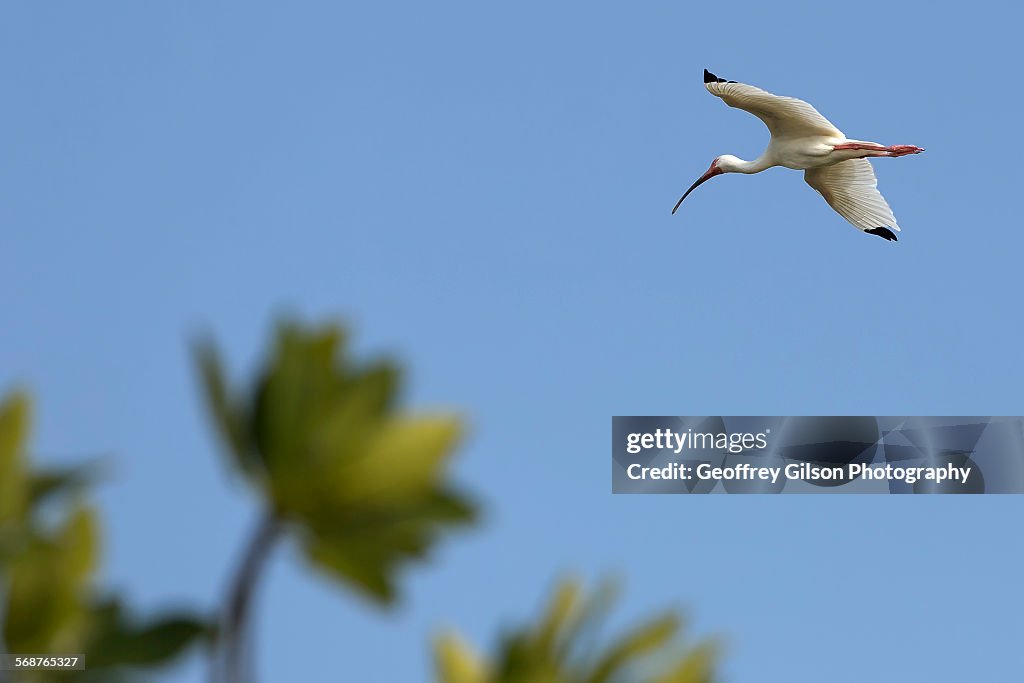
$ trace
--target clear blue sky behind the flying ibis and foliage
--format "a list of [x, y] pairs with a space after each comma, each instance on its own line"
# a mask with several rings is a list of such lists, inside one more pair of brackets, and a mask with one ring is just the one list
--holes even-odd
[[[680, 605], [725, 680], [1020, 676], [1024, 498], [612, 497], [609, 416], [1021, 413], [1019, 8], [1005, 2], [6, 2], [0, 386], [50, 460], [117, 455], [103, 578], [210, 606], [253, 500], [187, 340], [238, 375], [282, 310], [349, 321], [461, 407], [485, 523], [381, 614], [282, 547], [264, 681], [428, 680], [562, 570]], [[857, 232], [756, 157], [705, 67], [800, 96], [876, 162], [903, 232]], [[1000, 145], [1010, 145], [1000, 148]], [[171, 681], [199, 681], [185, 663]]]

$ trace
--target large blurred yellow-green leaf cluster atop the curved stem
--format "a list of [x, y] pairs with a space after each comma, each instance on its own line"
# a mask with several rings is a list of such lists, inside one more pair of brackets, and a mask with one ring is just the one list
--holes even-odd
[[462, 430], [452, 415], [397, 410], [397, 368], [344, 350], [340, 328], [284, 324], [248, 392], [228, 386], [212, 345], [197, 358], [232, 465], [315, 566], [390, 602], [398, 565], [473, 519], [444, 480]]

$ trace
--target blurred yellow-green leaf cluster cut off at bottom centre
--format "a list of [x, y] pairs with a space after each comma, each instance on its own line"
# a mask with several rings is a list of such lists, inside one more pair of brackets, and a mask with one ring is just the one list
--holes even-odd
[[591, 640], [610, 594], [585, 595], [562, 582], [536, 626], [507, 634], [492, 661], [454, 635], [434, 643], [438, 683], [711, 683], [717, 649], [711, 642], [684, 647], [680, 618], [654, 616], [610, 645]]

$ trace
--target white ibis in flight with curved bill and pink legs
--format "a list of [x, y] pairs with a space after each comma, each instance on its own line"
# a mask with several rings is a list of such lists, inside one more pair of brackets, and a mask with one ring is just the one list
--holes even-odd
[[[722, 173], [760, 173], [773, 166], [804, 171], [804, 179], [855, 227], [896, 241], [899, 225], [878, 188], [869, 157], [903, 157], [924, 152], [912, 144], [886, 146], [851, 140], [817, 110], [796, 97], [780, 97], [753, 85], [726, 81], [705, 69], [705, 87], [729, 106], [764, 121], [771, 141], [754, 161], [722, 155], [676, 202], [672, 213], [700, 183]], [[895, 230], [896, 232], [894, 232]]]

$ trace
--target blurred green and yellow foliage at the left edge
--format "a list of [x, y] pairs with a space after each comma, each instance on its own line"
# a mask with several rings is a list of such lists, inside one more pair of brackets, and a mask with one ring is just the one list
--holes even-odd
[[[86, 672], [20, 672], [17, 681], [116, 681], [159, 666], [209, 632], [188, 614], [132, 622], [94, 587], [99, 522], [85, 502], [88, 467], [31, 468], [27, 395], [0, 401], [0, 613], [4, 648], [18, 654], [87, 653]], [[43, 514], [42, 504], [52, 502]]]

